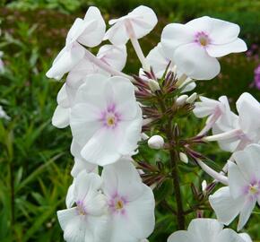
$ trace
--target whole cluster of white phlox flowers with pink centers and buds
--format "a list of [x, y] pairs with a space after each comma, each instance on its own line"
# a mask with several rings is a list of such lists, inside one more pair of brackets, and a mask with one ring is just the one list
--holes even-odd
[[[260, 201], [259, 103], [244, 93], [235, 114], [225, 96], [219, 100], [200, 97], [198, 102], [197, 93], [187, 94], [195, 89], [196, 80], [210, 80], [220, 73], [218, 57], [247, 50], [238, 38], [239, 27], [207, 16], [186, 24], [171, 23], [162, 30], [157, 46], [144, 56], [138, 39], [149, 34], [157, 22], [152, 9], [141, 5], [126, 16], [110, 20], [106, 30], [100, 10], [91, 6], [83, 19], [74, 21], [65, 48], [48, 70], [48, 78], [59, 81], [65, 76], [52, 124], [57, 128], [69, 126], [73, 136], [74, 181], [68, 188], [66, 208], [57, 212], [64, 238], [67, 242], [147, 241], [155, 227], [152, 188], [164, 177], [160, 167], [142, 163], [140, 169], [134, 154], [142, 143], [155, 150], [174, 151], [171, 139], [178, 135], [178, 129], [175, 134], [170, 130], [169, 135], [150, 137], [152, 124], [165, 119], [171, 122], [171, 113], [194, 108], [195, 116], [207, 117], [207, 121], [192, 142], [218, 141], [223, 151], [234, 154], [224, 168], [229, 174], [226, 177], [204, 164], [202, 156], [183, 142], [179, 160], [188, 165], [193, 157], [215, 183], [221, 181], [226, 186], [209, 198], [218, 220], [195, 219], [187, 230], [180, 224], [182, 230], [168, 241], [250, 242], [247, 234], [223, 229], [223, 224], [230, 224], [239, 213], [241, 229]], [[102, 41], [106, 42], [98, 53], [92, 54], [88, 48], [98, 47]], [[141, 63], [133, 76], [122, 72], [128, 41]], [[168, 110], [163, 97], [173, 95], [173, 108]], [[162, 114], [149, 107], [154, 99], [158, 99]], [[206, 136], [211, 129], [213, 135]], [[142, 179], [145, 169], [156, 170], [157, 177]], [[181, 221], [183, 214], [177, 213]]]

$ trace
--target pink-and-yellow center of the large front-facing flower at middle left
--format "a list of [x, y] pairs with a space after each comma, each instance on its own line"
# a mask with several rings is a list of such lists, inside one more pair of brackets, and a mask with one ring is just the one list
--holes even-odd
[[116, 128], [120, 122], [120, 114], [116, 110], [116, 105], [111, 104], [108, 108], [101, 113], [100, 118], [103, 126], [107, 128]]

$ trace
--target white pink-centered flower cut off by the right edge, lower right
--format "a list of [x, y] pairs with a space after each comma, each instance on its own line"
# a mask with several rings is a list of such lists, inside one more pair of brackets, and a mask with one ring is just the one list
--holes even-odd
[[229, 162], [229, 186], [210, 195], [209, 201], [221, 223], [228, 225], [238, 214], [238, 230], [242, 229], [256, 202], [260, 205], [260, 145], [250, 144], [233, 154]]

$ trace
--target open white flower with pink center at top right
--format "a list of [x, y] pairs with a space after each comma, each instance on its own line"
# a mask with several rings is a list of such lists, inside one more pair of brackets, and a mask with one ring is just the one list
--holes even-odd
[[169, 59], [187, 76], [210, 80], [220, 73], [217, 57], [247, 50], [238, 39], [239, 26], [207, 16], [187, 22], [171, 23], [161, 34], [161, 45]]

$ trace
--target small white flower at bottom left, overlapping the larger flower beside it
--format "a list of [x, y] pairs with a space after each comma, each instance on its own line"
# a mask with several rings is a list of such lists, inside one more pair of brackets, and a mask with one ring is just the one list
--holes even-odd
[[108, 228], [107, 201], [100, 193], [102, 179], [82, 171], [74, 181], [75, 207], [57, 212], [67, 242], [105, 241]]

